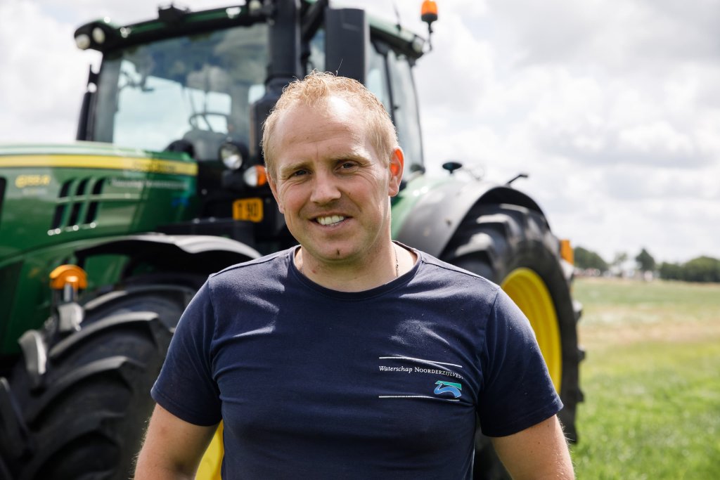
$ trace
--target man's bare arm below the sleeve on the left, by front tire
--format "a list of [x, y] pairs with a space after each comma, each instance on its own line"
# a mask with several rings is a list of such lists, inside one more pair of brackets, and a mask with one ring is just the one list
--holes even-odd
[[193, 425], [156, 405], [138, 456], [135, 480], [194, 479], [216, 429], [217, 425]]

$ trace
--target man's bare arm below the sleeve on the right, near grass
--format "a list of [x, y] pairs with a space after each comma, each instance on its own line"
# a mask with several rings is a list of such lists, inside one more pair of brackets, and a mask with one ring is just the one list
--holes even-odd
[[575, 479], [567, 441], [555, 415], [521, 432], [491, 440], [514, 480]]

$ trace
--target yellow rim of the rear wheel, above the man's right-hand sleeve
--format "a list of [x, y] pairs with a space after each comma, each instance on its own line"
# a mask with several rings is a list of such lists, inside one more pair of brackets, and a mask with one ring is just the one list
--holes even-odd
[[557, 312], [540, 276], [529, 268], [517, 268], [500, 285], [530, 320], [550, 372], [555, 390], [562, 381], [562, 345]]

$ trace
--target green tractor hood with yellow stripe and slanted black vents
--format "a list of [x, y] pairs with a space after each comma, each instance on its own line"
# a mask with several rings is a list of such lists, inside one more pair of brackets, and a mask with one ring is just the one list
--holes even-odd
[[36, 248], [192, 214], [197, 163], [104, 143], [0, 145], [0, 266]]

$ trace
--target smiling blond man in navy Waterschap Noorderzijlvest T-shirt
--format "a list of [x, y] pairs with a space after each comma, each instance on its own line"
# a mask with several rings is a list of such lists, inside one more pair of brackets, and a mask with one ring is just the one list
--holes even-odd
[[498, 286], [390, 239], [403, 157], [360, 83], [312, 73], [264, 125], [300, 243], [210, 276], [153, 387], [138, 479], [469, 479], [476, 412], [516, 479], [572, 478], [562, 404]]

